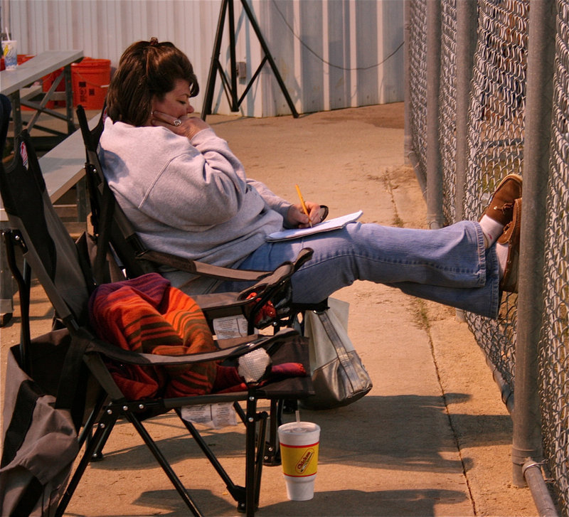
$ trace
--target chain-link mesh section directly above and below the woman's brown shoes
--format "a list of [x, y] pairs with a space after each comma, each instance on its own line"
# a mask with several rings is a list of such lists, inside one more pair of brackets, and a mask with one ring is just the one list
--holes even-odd
[[[472, 73], [464, 218], [479, 218], [501, 178], [522, 174], [525, 98], [514, 88], [526, 79], [528, 1], [480, 2]], [[453, 161], [445, 166], [452, 169]], [[467, 319], [477, 342], [511, 390], [514, 389], [516, 294], [504, 295], [500, 317]]]

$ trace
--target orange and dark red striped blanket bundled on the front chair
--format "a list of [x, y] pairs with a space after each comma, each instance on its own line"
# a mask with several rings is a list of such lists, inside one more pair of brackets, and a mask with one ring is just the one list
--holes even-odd
[[[100, 285], [90, 299], [90, 317], [101, 339], [127, 350], [179, 356], [216, 349], [196, 302], [157, 273]], [[114, 363], [110, 371], [124, 395], [136, 400], [211, 393], [218, 367], [213, 361], [161, 367]]]

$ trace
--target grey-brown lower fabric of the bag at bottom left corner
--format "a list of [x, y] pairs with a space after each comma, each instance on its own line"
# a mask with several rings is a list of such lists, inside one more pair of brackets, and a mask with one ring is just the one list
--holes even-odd
[[58, 407], [57, 399], [22, 370], [18, 356], [18, 346], [12, 347], [4, 390], [0, 515], [50, 517], [79, 452], [77, 432], [69, 408]]

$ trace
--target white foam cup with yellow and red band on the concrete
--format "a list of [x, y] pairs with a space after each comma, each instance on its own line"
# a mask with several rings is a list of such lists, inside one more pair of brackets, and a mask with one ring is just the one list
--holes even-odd
[[312, 422], [290, 422], [279, 427], [282, 473], [291, 501], [314, 497], [320, 427]]

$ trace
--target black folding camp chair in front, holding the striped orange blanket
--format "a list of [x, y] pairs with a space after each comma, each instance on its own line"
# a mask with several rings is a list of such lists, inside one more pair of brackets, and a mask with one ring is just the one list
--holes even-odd
[[[76, 423], [81, 432], [79, 442], [83, 447], [83, 456], [73, 472], [63, 499], [58, 506], [58, 515], [63, 515], [75, 488], [85, 472], [93, 454], [100, 450], [102, 442], [107, 438], [107, 430], [112, 429], [117, 418], [128, 420], [144, 439], [152, 454], [164, 469], [181, 499], [190, 511], [201, 515], [196, 503], [191, 498], [179, 477], [171, 469], [168, 460], [153, 441], [143, 420], [169, 410], [180, 413], [181, 407], [204, 403], [232, 402], [238, 409], [239, 403], [245, 403], [245, 411], [240, 414], [245, 423], [245, 486], [238, 486], [223, 469], [218, 459], [201, 438], [191, 422], [182, 420], [198, 446], [215, 467], [225, 482], [228, 492], [238, 503], [240, 511], [252, 516], [259, 502], [262, 459], [265, 446], [265, 429], [267, 413], [257, 409], [260, 399], [282, 400], [298, 399], [312, 395], [312, 383], [308, 376], [287, 378], [285, 380], [267, 381], [265, 384], [249, 383], [247, 390], [238, 393], [208, 394], [196, 397], [150, 398], [129, 400], [118, 388], [109, 371], [109, 361], [132, 363], [137, 365], [171, 366], [191, 365], [198, 361], [235, 361], [235, 358], [257, 348], [265, 348], [274, 363], [302, 363], [309, 371], [307, 343], [292, 329], [283, 329], [272, 336], [245, 336], [244, 338], [223, 343], [218, 341], [218, 350], [186, 356], [156, 356], [154, 354], [124, 351], [113, 343], [107, 343], [95, 337], [97, 329], [90, 328], [87, 314], [87, 302], [92, 289], [97, 285], [95, 275], [90, 268], [90, 261], [81, 260], [83, 250], [78, 247], [65, 230], [63, 223], [55, 214], [55, 210], [46, 192], [41, 170], [28, 138], [23, 132], [19, 138], [14, 161], [8, 166], [0, 166], [0, 191], [4, 208], [9, 216], [11, 230], [4, 234], [9, 250], [11, 270], [18, 281], [20, 291], [23, 333], [18, 350], [21, 368], [28, 374], [33, 363], [30, 348], [28, 325], [28, 301], [31, 284], [30, 270], [36, 275], [50, 299], [58, 321], [62, 322], [70, 334], [70, 347], [67, 356], [73, 351], [75, 356], [83, 360], [90, 373], [90, 378], [98, 386], [95, 399], [83, 398], [76, 404], [80, 410], [75, 412]], [[23, 272], [15, 260], [14, 250], [23, 252], [25, 265]], [[212, 294], [201, 297], [206, 303], [202, 307], [206, 319], [223, 311], [225, 301], [229, 301], [230, 311], [238, 309], [248, 321], [259, 321], [257, 312], [267, 302], [274, 300], [285, 313], [284, 305], [289, 297], [289, 280], [297, 268], [307, 260], [311, 250], [304, 252], [297, 262], [285, 263], [275, 272], [257, 275], [257, 296], [253, 299], [233, 295], [233, 298]], [[218, 273], [218, 271], [216, 271]], [[228, 272], [223, 272], [223, 276]], [[250, 278], [252, 279], [252, 278]], [[207, 300], [207, 297], [211, 299]], [[214, 300], [215, 298], [215, 300]], [[263, 302], [260, 304], [258, 299]], [[211, 311], [210, 311], [211, 307]], [[263, 322], [265, 324], [265, 322]], [[68, 363], [65, 363], [68, 367]], [[9, 372], [8, 372], [9, 377]], [[79, 392], [79, 390], [78, 390]], [[83, 393], [83, 392], [82, 392]], [[87, 412], [83, 411], [86, 405]], [[90, 412], [90, 413], [89, 413]], [[81, 418], [77, 415], [81, 414]], [[88, 418], [83, 415], [90, 414]], [[0, 494], [1, 495], [1, 494]]]

